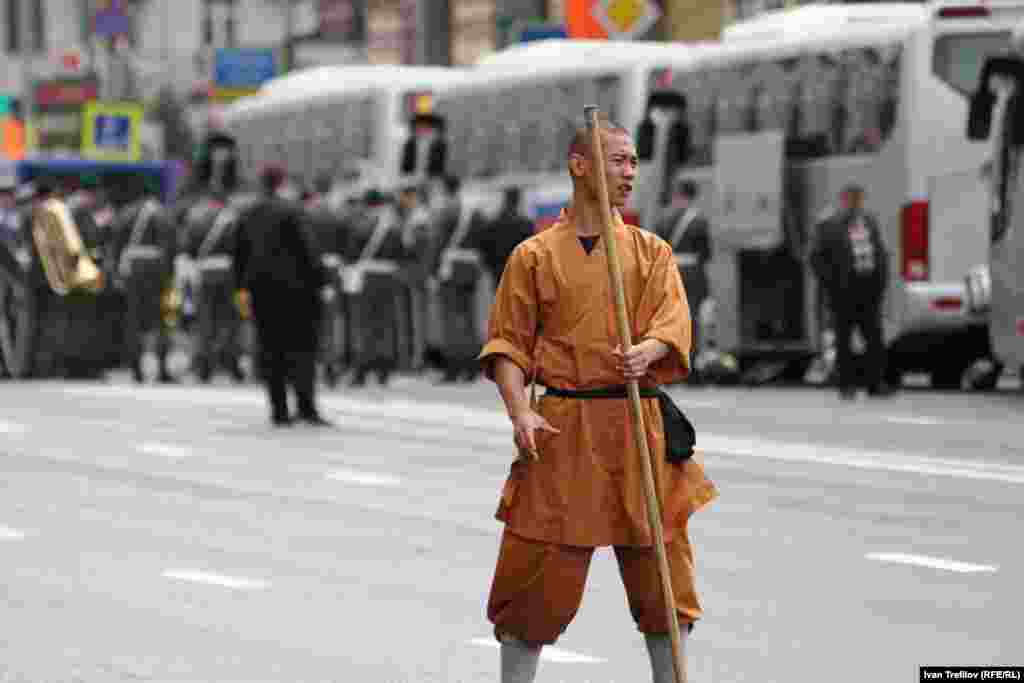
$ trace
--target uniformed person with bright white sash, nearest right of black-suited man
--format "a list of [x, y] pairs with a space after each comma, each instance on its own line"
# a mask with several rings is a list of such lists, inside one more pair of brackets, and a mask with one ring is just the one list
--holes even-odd
[[364, 386], [376, 372], [387, 384], [399, 358], [399, 297], [406, 284], [399, 261], [406, 257], [401, 222], [389, 198], [376, 189], [366, 196], [366, 210], [353, 224], [342, 270], [351, 328], [352, 386]]

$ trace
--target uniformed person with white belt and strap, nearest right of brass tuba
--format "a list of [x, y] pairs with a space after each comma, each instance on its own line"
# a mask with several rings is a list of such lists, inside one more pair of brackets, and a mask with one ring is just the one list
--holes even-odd
[[153, 332], [157, 335], [158, 381], [176, 381], [167, 366], [171, 329], [164, 321], [162, 297], [173, 287], [177, 230], [159, 194], [155, 181], [146, 178], [143, 196], [122, 207], [115, 218], [115, 282], [125, 296], [125, 354], [136, 383], [143, 381], [143, 338]]

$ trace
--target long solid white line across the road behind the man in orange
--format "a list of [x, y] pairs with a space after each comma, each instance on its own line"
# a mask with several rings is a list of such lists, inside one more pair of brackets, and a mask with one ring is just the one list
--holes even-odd
[[[92, 396], [120, 397], [135, 395], [131, 387], [97, 386], [68, 387], [66, 393]], [[151, 400], [166, 399], [188, 402], [191, 405], [259, 404], [264, 398], [255, 392], [239, 389], [197, 390], [189, 387], [161, 387], [147, 392]], [[452, 433], [463, 439], [479, 440], [487, 446], [504, 447], [511, 441], [512, 428], [508, 418], [498, 410], [482, 410], [461, 403], [415, 401], [393, 398], [370, 401], [366, 399], [325, 396], [323, 402], [360, 425], [370, 425], [381, 435], [388, 433], [399, 437], [416, 436], [418, 429], [436, 430], [424, 437], [443, 437]], [[344, 423], [345, 420], [340, 422]], [[760, 458], [783, 462], [841, 465], [864, 470], [901, 472], [927, 476], [946, 476], [959, 479], [998, 481], [1024, 484], [1024, 466], [994, 463], [984, 460], [942, 459], [906, 451], [873, 451], [823, 443], [774, 441], [762, 438], [726, 436], [699, 431], [697, 450], [715, 456]]]

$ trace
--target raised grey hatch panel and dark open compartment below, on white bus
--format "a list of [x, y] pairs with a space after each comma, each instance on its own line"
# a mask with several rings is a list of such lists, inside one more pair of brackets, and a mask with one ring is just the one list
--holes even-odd
[[714, 159], [718, 343], [745, 357], [806, 351], [803, 265], [783, 222], [783, 131], [720, 135]]

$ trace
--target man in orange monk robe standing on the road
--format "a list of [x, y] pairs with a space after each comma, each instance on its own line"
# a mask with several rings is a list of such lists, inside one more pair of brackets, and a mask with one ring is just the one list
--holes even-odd
[[[614, 548], [655, 683], [673, 680], [641, 454], [622, 388], [636, 379], [651, 396], [658, 384], [685, 378], [691, 324], [672, 248], [654, 233], [625, 224], [618, 214], [636, 179], [633, 141], [625, 129], [606, 122], [600, 131], [605, 168], [591, 158], [587, 130], [578, 130], [568, 155], [572, 204], [553, 226], [513, 252], [479, 356], [498, 384], [521, 454], [498, 509], [505, 530], [487, 605], [502, 644], [502, 683], [534, 680], [542, 646], [555, 642], [572, 620], [593, 551], [602, 546]], [[625, 354], [599, 242], [594, 174], [602, 171], [636, 344]], [[548, 387], [537, 405], [526, 395], [532, 381]], [[586, 390], [591, 391], [580, 395]], [[686, 525], [717, 494], [695, 458], [669, 462], [659, 400], [641, 402], [685, 636], [701, 614]]]

